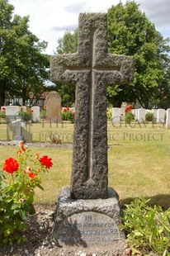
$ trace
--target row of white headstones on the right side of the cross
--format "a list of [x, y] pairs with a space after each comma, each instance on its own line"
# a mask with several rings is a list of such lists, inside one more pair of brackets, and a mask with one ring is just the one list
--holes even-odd
[[[135, 120], [139, 123], [142, 123], [146, 120], [146, 113], [153, 113], [153, 119], [156, 123], [165, 123], [166, 128], [170, 128], [170, 108], [168, 110], [160, 109], [152, 109], [147, 110], [144, 108], [132, 109], [132, 114], [135, 116]], [[125, 108], [113, 107], [112, 109], [112, 122], [119, 123], [123, 118], [125, 118]]]

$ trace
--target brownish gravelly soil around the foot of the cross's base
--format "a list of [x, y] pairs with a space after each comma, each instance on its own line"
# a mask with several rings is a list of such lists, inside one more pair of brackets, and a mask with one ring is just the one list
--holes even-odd
[[8, 244], [1, 246], [1, 256], [125, 256], [130, 255], [130, 249], [125, 246], [116, 248], [117, 253], [112, 254], [111, 246], [107, 248], [81, 248], [55, 246], [50, 239], [53, 227], [52, 209], [35, 206], [36, 214], [27, 220], [27, 242], [23, 244]]

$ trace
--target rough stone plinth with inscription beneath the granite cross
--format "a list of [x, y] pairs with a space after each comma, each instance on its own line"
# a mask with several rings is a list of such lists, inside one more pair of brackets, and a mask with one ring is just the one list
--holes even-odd
[[107, 248], [111, 245], [111, 252], [125, 248], [119, 197], [112, 188], [108, 188], [106, 199], [74, 200], [70, 197], [70, 188], [63, 187], [54, 216], [52, 239], [59, 247]]

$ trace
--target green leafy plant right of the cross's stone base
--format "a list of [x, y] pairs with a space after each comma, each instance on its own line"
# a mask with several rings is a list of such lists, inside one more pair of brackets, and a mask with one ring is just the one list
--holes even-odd
[[153, 252], [156, 255], [169, 255], [170, 250], [170, 208], [148, 206], [149, 199], [137, 198], [126, 205], [122, 218], [132, 253], [139, 255]]

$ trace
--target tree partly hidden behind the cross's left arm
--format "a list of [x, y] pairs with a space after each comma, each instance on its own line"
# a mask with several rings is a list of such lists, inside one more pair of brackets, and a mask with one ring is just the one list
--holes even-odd
[[[63, 38], [59, 38], [57, 54], [73, 54], [78, 48], [78, 30], [73, 33], [66, 31]], [[57, 90], [62, 97], [62, 105], [71, 107], [75, 102], [75, 86], [57, 84]]]

